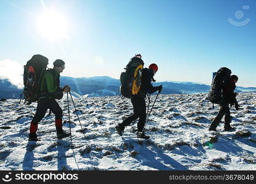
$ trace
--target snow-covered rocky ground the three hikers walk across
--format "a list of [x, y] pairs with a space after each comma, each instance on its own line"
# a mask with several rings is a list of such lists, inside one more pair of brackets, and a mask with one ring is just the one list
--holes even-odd
[[[151, 102], [156, 96], [151, 96]], [[256, 170], [256, 93], [239, 93], [241, 110], [231, 108], [233, 132], [208, 131], [218, 106], [206, 93], [160, 94], [146, 124], [149, 140], [137, 139], [137, 122], [120, 137], [114, 129], [131, 115], [129, 99], [119, 96], [70, 101], [70, 138], [57, 140], [54, 115], [40, 123], [41, 141], [28, 143], [36, 103], [0, 102], [0, 170]], [[63, 127], [70, 129], [66, 96]], [[152, 103], [151, 103], [152, 104]], [[76, 115], [81, 120], [82, 129]]]

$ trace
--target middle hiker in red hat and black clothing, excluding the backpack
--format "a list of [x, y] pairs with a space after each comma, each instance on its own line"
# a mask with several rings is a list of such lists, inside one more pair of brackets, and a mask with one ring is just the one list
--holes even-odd
[[[141, 57], [141, 56], [140, 56]], [[156, 64], [150, 64], [148, 68], [144, 68], [142, 71], [142, 85], [138, 94], [132, 96], [132, 106], [134, 107], [134, 114], [128, 118], [126, 118], [122, 123], [119, 123], [118, 126], [115, 127], [116, 131], [120, 136], [124, 131], [125, 126], [128, 126], [132, 123], [132, 121], [137, 120], [137, 137], [142, 139], [149, 139], [150, 136], [146, 136], [143, 131], [146, 121], [146, 93], [154, 93], [159, 91], [161, 93], [162, 85], [153, 86], [151, 81], [153, 80], [154, 74], [158, 71], [158, 66]]]

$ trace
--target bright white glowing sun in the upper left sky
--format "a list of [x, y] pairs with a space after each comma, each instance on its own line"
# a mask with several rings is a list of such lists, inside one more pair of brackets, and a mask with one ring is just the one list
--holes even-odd
[[37, 19], [39, 33], [47, 39], [68, 39], [68, 24], [65, 16], [54, 9], [47, 9]]

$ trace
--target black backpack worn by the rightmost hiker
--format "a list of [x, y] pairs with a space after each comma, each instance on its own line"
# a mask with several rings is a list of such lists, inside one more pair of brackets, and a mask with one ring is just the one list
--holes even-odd
[[223, 88], [228, 82], [231, 70], [227, 67], [220, 68], [214, 79], [212, 80], [212, 85], [210, 86], [210, 92], [208, 99], [213, 104], [223, 104], [225, 101], [225, 94], [223, 93]]

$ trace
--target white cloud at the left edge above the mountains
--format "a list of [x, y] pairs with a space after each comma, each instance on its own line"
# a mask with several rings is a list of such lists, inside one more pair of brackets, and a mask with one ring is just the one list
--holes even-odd
[[23, 88], [22, 64], [10, 59], [0, 61], [0, 79], [8, 79], [13, 85]]

